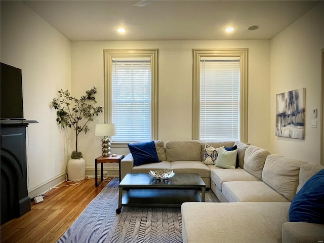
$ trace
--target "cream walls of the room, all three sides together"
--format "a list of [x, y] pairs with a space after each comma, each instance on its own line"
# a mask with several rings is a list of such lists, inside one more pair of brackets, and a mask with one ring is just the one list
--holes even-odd
[[[24, 115], [29, 125], [29, 191], [64, 175], [71, 151], [49, 104], [57, 90], [80, 96], [96, 86], [104, 104], [104, 49], [159, 49], [159, 139], [191, 139], [192, 61], [196, 48], [249, 48], [249, 142], [292, 158], [319, 163], [319, 126], [311, 109], [320, 102], [320, 50], [324, 48], [324, 3], [320, 2], [270, 41], [73, 42], [22, 2], [1, 2], [1, 61], [22, 69]], [[319, 28], [317, 26], [320, 26]], [[270, 55], [271, 54], [271, 55]], [[71, 65], [72, 64], [72, 65]], [[271, 68], [270, 68], [271, 67]], [[271, 82], [270, 82], [271, 81]], [[305, 139], [276, 137], [275, 94], [306, 88]], [[320, 110], [318, 109], [318, 125]], [[101, 141], [94, 125], [82, 135], [87, 168], [94, 167]], [[269, 132], [270, 131], [270, 132]], [[70, 147], [73, 147], [71, 143]], [[114, 148], [117, 153], [127, 149]], [[107, 166], [107, 165], [105, 165]], [[116, 168], [115, 168], [116, 169]]]

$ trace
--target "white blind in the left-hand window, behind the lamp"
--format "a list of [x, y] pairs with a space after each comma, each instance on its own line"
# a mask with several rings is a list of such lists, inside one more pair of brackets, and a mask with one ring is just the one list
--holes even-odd
[[112, 141], [151, 140], [150, 58], [113, 58], [111, 91]]

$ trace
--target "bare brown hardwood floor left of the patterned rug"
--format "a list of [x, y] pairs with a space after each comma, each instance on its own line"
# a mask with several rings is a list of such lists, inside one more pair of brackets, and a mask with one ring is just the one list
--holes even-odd
[[1, 226], [1, 242], [56, 242], [108, 183], [95, 187], [95, 179], [85, 179], [53, 188], [41, 203], [32, 201], [31, 211]]

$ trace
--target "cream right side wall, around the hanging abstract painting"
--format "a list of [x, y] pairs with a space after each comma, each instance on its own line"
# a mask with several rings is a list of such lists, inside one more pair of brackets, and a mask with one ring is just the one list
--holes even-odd
[[[271, 40], [270, 150], [291, 158], [319, 163], [321, 49], [324, 48], [324, 2], [320, 2]], [[275, 95], [306, 88], [305, 139], [275, 136]], [[312, 116], [317, 108], [318, 116]], [[311, 120], [317, 119], [317, 128]]]

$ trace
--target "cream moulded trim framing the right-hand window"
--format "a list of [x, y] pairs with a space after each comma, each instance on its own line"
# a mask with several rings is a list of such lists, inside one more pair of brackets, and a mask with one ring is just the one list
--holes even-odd
[[192, 49], [192, 139], [199, 139], [200, 58], [240, 57], [240, 142], [248, 142], [248, 48]]

